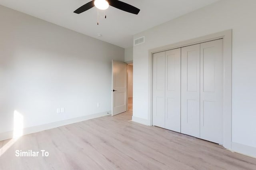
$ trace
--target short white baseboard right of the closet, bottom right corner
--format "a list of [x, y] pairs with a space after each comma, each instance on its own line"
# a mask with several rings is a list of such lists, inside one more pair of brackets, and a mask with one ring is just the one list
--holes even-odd
[[232, 142], [231, 151], [256, 158], [256, 148], [236, 142]]

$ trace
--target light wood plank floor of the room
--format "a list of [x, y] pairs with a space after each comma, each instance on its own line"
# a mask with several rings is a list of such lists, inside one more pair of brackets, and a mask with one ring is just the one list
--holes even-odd
[[[22, 136], [1, 157], [1, 170], [256, 170], [256, 159], [217, 144], [130, 121], [132, 113]], [[0, 142], [0, 148], [9, 140]], [[16, 157], [46, 150], [48, 157]]]

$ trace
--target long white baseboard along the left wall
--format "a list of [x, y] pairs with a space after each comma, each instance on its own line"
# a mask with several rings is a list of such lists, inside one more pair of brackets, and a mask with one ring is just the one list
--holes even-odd
[[[97, 118], [97, 117], [107, 116], [107, 115], [109, 115], [108, 113], [111, 113], [111, 111], [102, 112], [102, 113], [95, 113], [95, 114], [92, 114], [92, 115], [86, 115], [86, 116], [83, 116], [83, 117], [76, 117], [76, 118], [73, 118], [73, 119], [67, 119], [67, 120], [48, 123], [48, 124], [44, 124], [44, 125], [38, 125], [38, 126], [35, 126], [35, 127], [27, 127], [27, 128], [23, 129], [23, 135], [31, 134], [31, 133], [35, 133], [35, 132], [40, 132], [40, 131], [48, 130], [48, 129], [51, 129], [51, 128], [61, 127], [61, 126], [69, 125], [69, 124], [72, 124], [72, 123], [82, 122], [82, 121], [86, 121], [86, 120], [89, 120], [89, 119], [94, 119], [94, 118]], [[13, 131], [0, 133], [0, 141], [11, 139], [11, 138], [13, 138]]]

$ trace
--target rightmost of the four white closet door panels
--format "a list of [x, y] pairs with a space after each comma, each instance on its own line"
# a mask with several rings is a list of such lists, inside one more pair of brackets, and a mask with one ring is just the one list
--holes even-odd
[[200, 138], [222, 144], [223, 40], [201, 43]]

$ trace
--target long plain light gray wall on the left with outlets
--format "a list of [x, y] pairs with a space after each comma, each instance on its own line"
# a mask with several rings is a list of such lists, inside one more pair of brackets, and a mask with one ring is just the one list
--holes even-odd
[[123, 48], [3, 6], [0, 23], [0, 133], [13, 129], [14, 111], [25, 128], [111, 110]]

